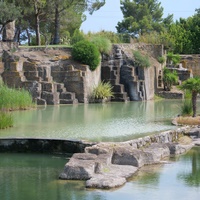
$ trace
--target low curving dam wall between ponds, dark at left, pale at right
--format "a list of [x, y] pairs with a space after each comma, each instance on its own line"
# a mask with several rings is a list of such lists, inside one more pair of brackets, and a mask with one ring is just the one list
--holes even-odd
[[37, 153], [83, 153], [86, 147], [95, 144], [115, 146], [127, 145], [140, 149], [152, 143], [171, 143], [189, 132], [189, 127], [169, 130], [125, 142], [95, 143], [76, 140], [44, 139], [44, 138], [0, 138], [0, 152], [37, 152]]

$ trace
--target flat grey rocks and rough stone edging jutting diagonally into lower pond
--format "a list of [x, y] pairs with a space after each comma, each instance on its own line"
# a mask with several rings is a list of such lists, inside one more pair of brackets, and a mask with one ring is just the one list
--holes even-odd
[[126, 142], [98, 143], [86, 147], [84, 153], [73, 154], [59, 178], [85, 180], [87, 188], [120, 187], [139, 168], [162, 163], [166, 157], [185, 153], [195, 144], [200, 145], [199, 133], [200, 128], [186, 126]]

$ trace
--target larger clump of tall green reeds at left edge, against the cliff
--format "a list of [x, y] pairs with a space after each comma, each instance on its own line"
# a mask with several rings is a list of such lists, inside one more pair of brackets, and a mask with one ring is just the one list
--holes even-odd
[[0, 110], [18, 110], [33, 107], [32, 97], [24, 89], [8, 88], [0, 85]]

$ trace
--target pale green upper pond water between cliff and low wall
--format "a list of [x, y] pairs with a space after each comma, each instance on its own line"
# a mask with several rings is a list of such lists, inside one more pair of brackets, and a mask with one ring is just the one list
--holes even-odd
[[175, 128], [181, 100], [47, 106], [13, 113], [14, 127], [0, 137], [125, 141]]

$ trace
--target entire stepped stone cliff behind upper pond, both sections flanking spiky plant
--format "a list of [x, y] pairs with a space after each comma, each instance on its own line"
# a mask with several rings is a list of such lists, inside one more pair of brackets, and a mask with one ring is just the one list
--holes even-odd
[[[149, 56], [149, 68], [136, 65], [134, 50]], [[112, 101], [150, 100], [161, 86], [159, 56], [163, 56], [162, 46], [113, 45], [110, 55], [103, 55], [101, 66], [90, 71], [71, 59], [70, 48], [20, 48], [4, 51], [2, 78], [10, 87], [28, 89], [38, 104], [87, 103], [100, 81], [112, 84]]]

